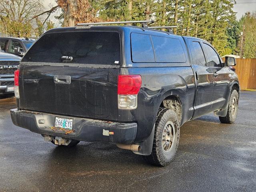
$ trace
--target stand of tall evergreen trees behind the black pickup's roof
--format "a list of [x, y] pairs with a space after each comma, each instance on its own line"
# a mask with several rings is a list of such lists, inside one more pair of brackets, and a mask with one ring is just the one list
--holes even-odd
[[239, 41], [233, 36], [237, 35], [238, 28], [232, 27], [235, 0], [86, 1], [90, 6], [82, 12], [90, 13], [92, 21], [155, 20], [151, 26], [176, 25], [174, 34], [205, 39], [221, 55], [237, 51], [235, 47]]

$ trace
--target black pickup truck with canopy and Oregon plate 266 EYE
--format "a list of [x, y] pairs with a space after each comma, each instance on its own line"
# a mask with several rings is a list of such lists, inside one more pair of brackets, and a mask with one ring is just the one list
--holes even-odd
[[214, 112], [236, 120], [235, 59], [208, 42], [133, 26], [56, 28], [26, 52], [15, 72], [16, 126], [45, 141], [114, 142], [167, 165], [180, 126]]

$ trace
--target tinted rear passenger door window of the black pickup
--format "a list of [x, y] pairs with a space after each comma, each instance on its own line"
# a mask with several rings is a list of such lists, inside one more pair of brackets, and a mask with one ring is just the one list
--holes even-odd
[[192, 55], [193, 64], [206, 66], [204, 52], [199, 42], [190, 41], [190, 52]]

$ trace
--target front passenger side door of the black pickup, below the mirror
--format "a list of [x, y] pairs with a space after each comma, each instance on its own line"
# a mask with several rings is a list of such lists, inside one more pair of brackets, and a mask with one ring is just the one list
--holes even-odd
[[226, 98], [229, 94], [229, 69], [222, 67], [222, 62], [218, 53], [212, 46], [203, 42], [203, 48], [206, 53], [207, 66], [212, 69], [214, 76], [214, 92], [212, 96], [212, 111], [223, 108]]

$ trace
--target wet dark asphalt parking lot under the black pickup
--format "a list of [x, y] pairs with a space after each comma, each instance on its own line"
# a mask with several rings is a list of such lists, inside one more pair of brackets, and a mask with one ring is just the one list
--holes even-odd
[[12, 124], [14, 99], [0, 100], [0, 192], [256, 191], [256, 92], [242, 92], [235, 124], [213, 114], [185, 123], [169, 166], [104, 142], [54, 146]]

